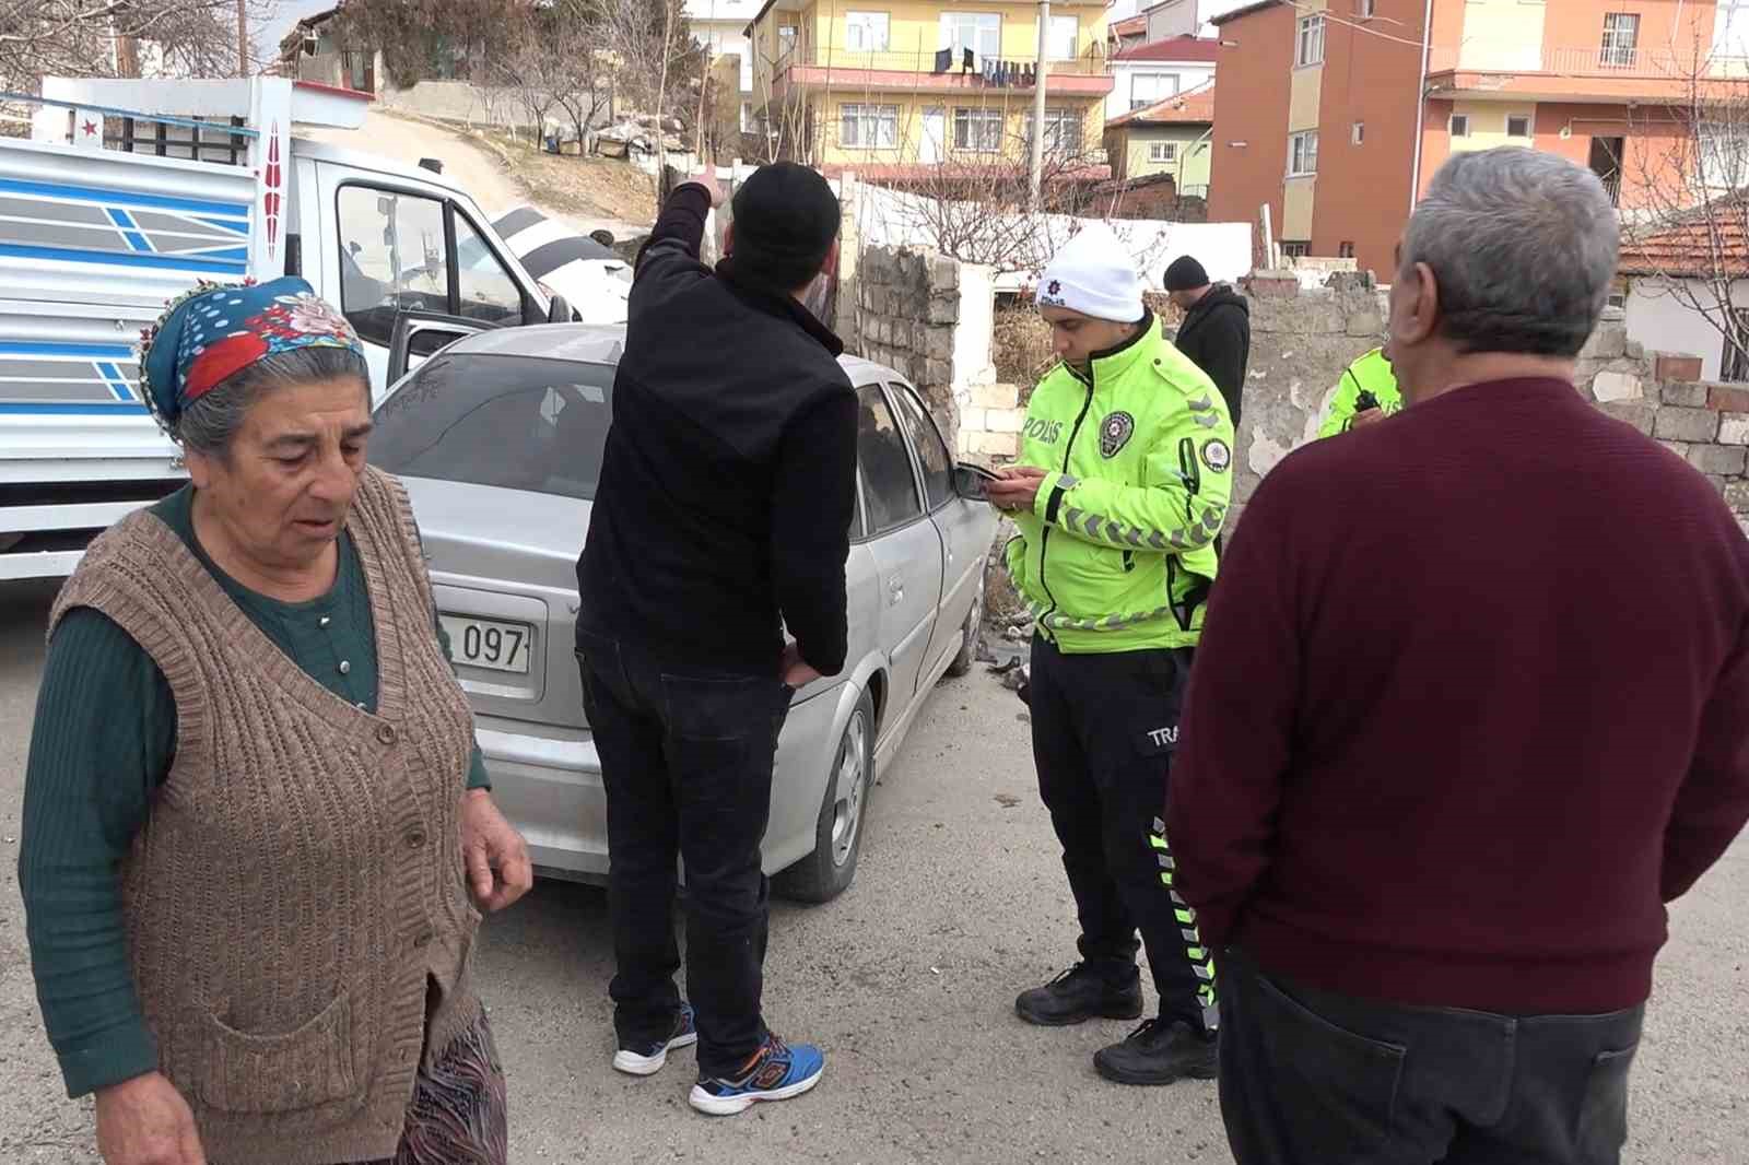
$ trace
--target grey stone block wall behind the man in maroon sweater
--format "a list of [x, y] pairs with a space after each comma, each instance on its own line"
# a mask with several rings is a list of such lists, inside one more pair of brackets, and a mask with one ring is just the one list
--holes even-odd
[[[1385, 296], [1366, 275], [1307, 290], [1293, 273], [1258, 273], [1251, 371], [1238, 430], [1235, 511], [1287, 453], [1317, 436], [1341, 371], [1383, 339]], [[1660, 439], [1749, 516], [1749, 388], [1700, 381], [1700, 360], [1646, 352], [1611, 313], [1579, 353], [1574, 381], [1604, 413]]]

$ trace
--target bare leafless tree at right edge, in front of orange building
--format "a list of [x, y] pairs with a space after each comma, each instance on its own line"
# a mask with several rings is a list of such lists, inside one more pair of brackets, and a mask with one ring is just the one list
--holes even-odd
[[1623, 269], [1702, 317], [1726, 374], [1749, 378], [1749, 61], [1695, 45], [1658, 68], [1681, 94], [1632, 108], [1627, 157], [1593, 157], [1623, 205]]

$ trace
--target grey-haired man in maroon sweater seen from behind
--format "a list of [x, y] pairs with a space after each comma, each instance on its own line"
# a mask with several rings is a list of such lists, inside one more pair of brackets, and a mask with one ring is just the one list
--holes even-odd
[[1167, 876], [1240, 1165], [1620, 1160], [1665, 903], [1749, 819], [1749, 542], [1572, 388], [1616, 238], [1586, 170], [1452, 159], [1406, 409], [1284, 460], [1221, 563]]

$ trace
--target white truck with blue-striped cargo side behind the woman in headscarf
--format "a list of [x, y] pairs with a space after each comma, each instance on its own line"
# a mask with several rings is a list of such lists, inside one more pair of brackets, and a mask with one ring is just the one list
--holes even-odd
[[359, 329], [373, 394], [458, 334], [572, 318], [439, 161], [292, 133], [359, 128], [369, 100], [271, 77], [44, 80], [30, 140], [0, 138], [0, 581], [72, 572], [185, 478], [138, 341], [196, 280], [310, 280]]

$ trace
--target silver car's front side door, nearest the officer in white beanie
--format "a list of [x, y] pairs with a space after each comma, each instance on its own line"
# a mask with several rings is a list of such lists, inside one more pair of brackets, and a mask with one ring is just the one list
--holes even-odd
[[929, 520], [936, 525], [943, 546], [941, 609], [936, 612], [936, 630], [929, 638], [923, 677], [934, 675], [943, 656], [960, 647], [960, 630], [971, 614], [978, 586], [983, 582], [985, 556], [990, 553], [990, 506], [971, 502], [953, 490], [953, 458], [948, 443], [941, 439], [934, 418], [923, 408], [916, 390], [902, 381], [888, 385], [899, 425], [904, 429], [916, 465], [922, 471], [923, 502]]

